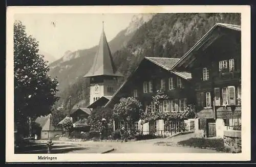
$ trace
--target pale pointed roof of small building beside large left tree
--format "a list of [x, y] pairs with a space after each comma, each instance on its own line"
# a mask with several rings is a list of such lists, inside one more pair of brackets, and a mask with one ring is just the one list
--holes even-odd
[[51, 122], [51, 114], [45, 117], [37, 117], [35, 122], [40, 125], [42, 131], [60, 130], [59, 127], [53, 126]]

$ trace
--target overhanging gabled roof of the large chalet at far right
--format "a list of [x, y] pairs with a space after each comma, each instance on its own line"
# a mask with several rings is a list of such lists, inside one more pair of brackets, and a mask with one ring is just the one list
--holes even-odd
[[[234, 30], [241, 32], [241, 25], [233, 25], [233, 24], [225, 24], [225, 23], [216, 23], [214, 26], [211, 27], [211, 29], [193, 46], [191, 47], [184, 55], [183, 57], [172, 67], [171, 70], [176, 69], [178, 66], [184, 63], [185, 59], [188, 59], [189, 57], [192, 57], [193, 54], [191, 54], [194, 50], [198, 50], [200, 47], [202, 47], [203, 44], [205, 44], [208, 40], [211, 34], [218, 29], [218, 27], [222, 27], [224, 29]], [[216, 39], [215, 39], [216, 40]]]

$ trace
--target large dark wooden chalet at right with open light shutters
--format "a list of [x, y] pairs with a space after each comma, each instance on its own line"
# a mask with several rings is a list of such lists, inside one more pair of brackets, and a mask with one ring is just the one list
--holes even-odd
[[215, 24], [172, 70], [191, 72], [206, 136], [241, 128], [241, 26]]

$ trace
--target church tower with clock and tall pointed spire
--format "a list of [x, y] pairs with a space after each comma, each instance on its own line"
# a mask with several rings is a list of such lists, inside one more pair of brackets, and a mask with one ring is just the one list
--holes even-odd
[[112, 96], [118, 89], [118, 81], [123, 77], [113, 61], [108, 41], [103, 28], [99, 40], [98, 50], [89, 72], [84, 77], [90, 78], [90, 104], [102, 96]]

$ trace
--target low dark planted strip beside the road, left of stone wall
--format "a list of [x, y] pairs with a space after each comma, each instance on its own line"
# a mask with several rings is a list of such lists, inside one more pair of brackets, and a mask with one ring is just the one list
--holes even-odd
[[209, 138], [189, 138], [185, 141], [178, 142], [179, 145], [199, 148], [214, 148], [217, 151], [224, 151], [224, 141], [222, 138], [209, 139]]

